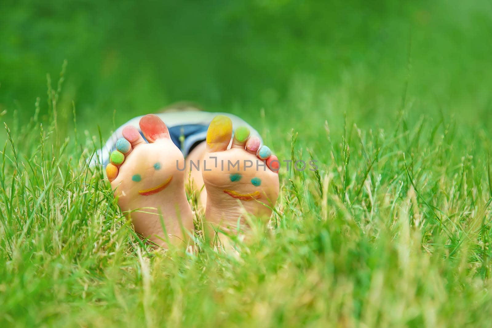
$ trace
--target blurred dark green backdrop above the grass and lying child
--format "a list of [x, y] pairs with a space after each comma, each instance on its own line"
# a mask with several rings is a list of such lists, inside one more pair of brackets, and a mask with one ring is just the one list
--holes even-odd
[[[1, 0], [0, 112], [19, 125], [67, 60], [71, 103], [103, 136], [180, 100], [315, 140], [325, 119], [391, 126], [405, 109], [490, 128], [492, 2]], [[117, 115], [114, 116], [114, 111]], [[113, 118], [114, 117], [114, 118]], [[335, 124], [333, 124], [335, 123]], [[69, 131], [70, 129], [68, 129]]]

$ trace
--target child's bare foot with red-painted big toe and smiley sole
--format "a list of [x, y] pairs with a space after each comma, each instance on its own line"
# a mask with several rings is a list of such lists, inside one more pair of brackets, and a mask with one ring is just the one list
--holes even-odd
[[179, 167], [184, 165], [183, 154], [157, 116], [144, 116], [140, 128], [149, 144], [135, 127], [126, 126], [106, 173], [118, 205], [131, 217], [137, 233], [159, 246], [168, 241], [178, 244], [193, 227], [184, 172], [177, 167], [177, 161]]

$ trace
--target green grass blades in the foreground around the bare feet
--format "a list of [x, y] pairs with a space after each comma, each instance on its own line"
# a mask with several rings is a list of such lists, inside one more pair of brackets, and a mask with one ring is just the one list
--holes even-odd
[[[347, 120], [343, 135], [327, 124], [325, 151], [312, 153], [319, 171], [281, 172], [271, 229], [238, 244], [235, 257], [199, 238], [198, 254], [142, 244], [101, 168], [85, 165], [94, 146], [57, 135], [70, 125], [54, 120], [60, 114], [8, 130], [1, 153], [5, 325], [489, 323], [488, 141], [457, 152], [456, 121], [409, 126], [402, 113], [388, 130]], [[278, 153], [309, 160], [296, 139]]]

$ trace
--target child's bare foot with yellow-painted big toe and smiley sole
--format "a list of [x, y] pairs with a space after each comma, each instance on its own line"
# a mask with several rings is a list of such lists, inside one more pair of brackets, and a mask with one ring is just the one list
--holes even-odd
[[[266, 146], [259, 148], [260, 140], [249, 138], [249, 129], [236, 129], [231, 149], [227, 149], [231, 136], [231, 120], [215, 117], [207, 131], [203, 167], [206, 220], [228, 234], [235, 233], [245, 209], [249, 214], [270, 217], [278, 196], [279, 168], [277, 156]], [[245, 220], [240, 223], [245, 228]]]

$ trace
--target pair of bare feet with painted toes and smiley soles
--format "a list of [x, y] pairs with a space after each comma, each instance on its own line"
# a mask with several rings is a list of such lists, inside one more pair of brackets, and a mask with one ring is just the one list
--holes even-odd
[[[126, 126], [106, 167], [118, 205], [138, 234], [162, 247], [187, 243], [193, 229], [184, 187], [189, 170], [201, 171], [205, 228], [212, 238], [224, 232], [217, 236], [223, 240], [222, 236], [247, 228], [247, 214], [270, 216], [278, 196], [279, 163], [268, 147], [259, 147], [258, 138], [249, 137], [246, 127], [236, 129], [228, 149], [232, 122], [223, 115], [215, 117], [207, 131], [206, 149], [191, 165], [185, 163], [161, 119], [146, 115], [139, 125], [149, 143], [135, 127]], [[202, 182], [196, 182], [200, 193]]]

